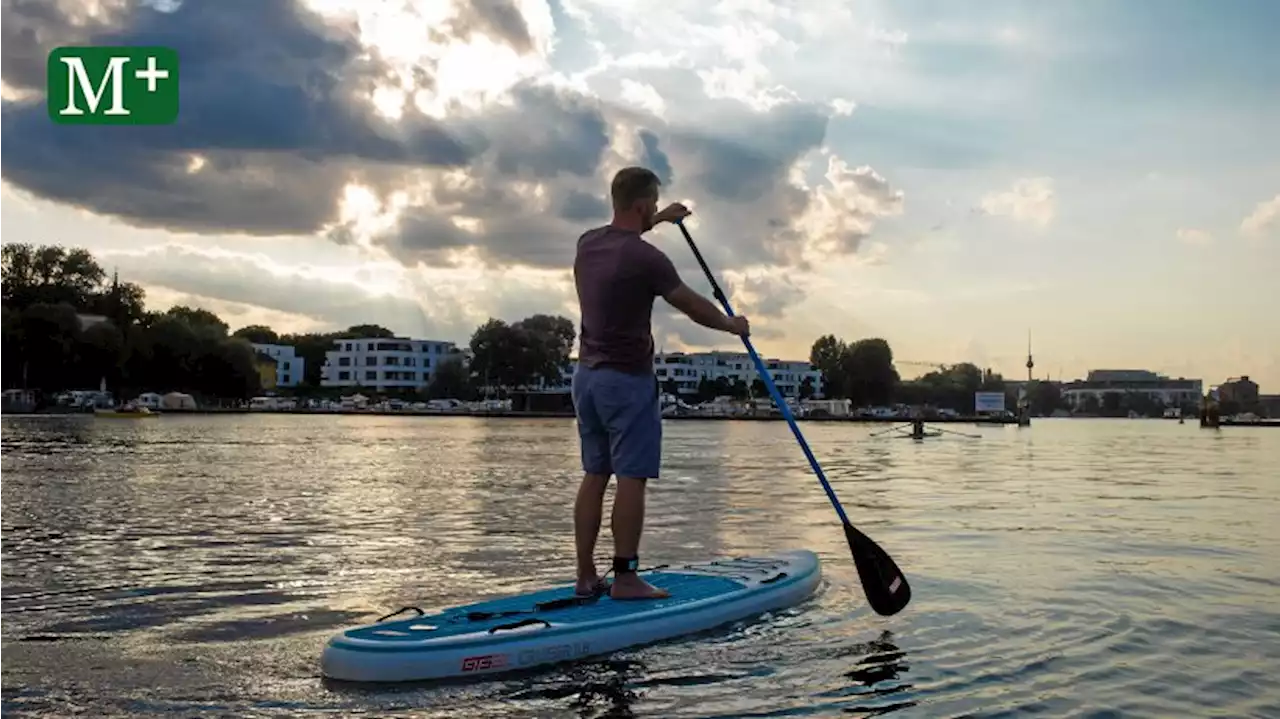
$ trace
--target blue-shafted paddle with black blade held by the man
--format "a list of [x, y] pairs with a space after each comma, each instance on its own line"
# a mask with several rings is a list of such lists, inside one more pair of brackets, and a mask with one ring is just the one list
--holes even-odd
[[[716, 276], [712, 275], [710, 267], [707, 266], [707, 261], [703, 260], [703, 253], [698, 251], [698, 246], [694, 244], [694, 238], [689, 234], [689, 229], [685, 224], [676, 221], [680, 232], [685, 234], [685, 241], [689, 242], [689, 248], [694, 251], [694, 257], [698, 258], [698, 264], [701, 265], [703, 273], [707, 274], [708, 281], [712, 283], [712, 292], [716, 299], [719, 299], [721, 306], [724, 308], [724, 313], [730, 317], [733, 316], [733, 308], [728, 304], [728, 298], [724, 297], [724, 292], [721, 290], [719, 283], [716, 281]], [[813, 455], [813, 450], [809, 449], [809, 443], [805, 441], [804, 435], [800, 432], [800, 427], [796, 425], [795, 417], [791, 416], [791, 408], [787, 407], [782, 394], [778, 393], [777, 385], [773, 384], [773, 376], [769, 375], [768, 367], [760, 360], [760, 356], [755, 352], [751, 345], [751, 339], [744, 336], [742, 344], [746, 345], [748, 354], [751, 356], [751, 361], [755, 363], [755, 371], [760, 375], [760, 380], [764, 386], [769, 389], [769, 394], [773, 397], [773, 403], [778, 406], [778, 411], [782, 412], [782, 417], [786, 418], [787, 425], [791, 426], [791, 434], [796, 436], [796, 441], [800, 443], [800, 449], [804, 450], [804, 455], [809, 459], [809, 466], [813, 467], [813, 472], [818, 475], [818, 481], [822, 482], [822, 489], [827, 491], [827, 499], [836, 508], [836, 514], [840, 516], [840, 521], [845, 525], [845, 539], [849, 541], [849, 550], [854, 555], [854, 564], [858, 567], [858, 576], [863, 582], [863, 592], [867, 594], [867, 601], [872, 605], [872, 609], [877, 614], [897, 614], [911, 601], [911, 587], [906, 583], [906, 577], [902, 576], [901, 569], [893, 563], [888, 553], [879, 548], [870, 537], [858, 531], [849, 522], [849, 517], [845, 514], [845, 508], [840, 505], [840, 500], [836, 499], [836, 493], [832, 491], [831, 485], [827, 482], [827, 476], [822, 472], [822, 467], [818, 466], [818, 459]]]

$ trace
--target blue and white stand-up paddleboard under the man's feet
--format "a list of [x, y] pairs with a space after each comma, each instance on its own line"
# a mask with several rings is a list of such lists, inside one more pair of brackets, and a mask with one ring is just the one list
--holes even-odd
[[822, 568], [817, 554], [797, 550], [640, 574], [671, 596], [579, 599], [570, 583], [375, 622], [333, 636], [320, 668], [334, 679], [411, 682], [596, 656], [791, 606], [814, 592]]

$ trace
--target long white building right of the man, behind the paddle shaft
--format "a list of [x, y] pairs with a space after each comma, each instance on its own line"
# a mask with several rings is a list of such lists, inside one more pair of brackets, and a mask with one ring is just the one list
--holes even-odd
[[[799, 398], [800, 388], [808, 379], [813, 397], [822, 398], [822, 372], [808, 361], [762, 360], [782, 397]], [[675, 380], [680, 394], [696, 393], [703, 379], [740, 380], [751, 386], [758, 376], [755, 363], [746, 352], [659, 352], [654, 356], [654, 374], [664, 386], [667, 380]]]

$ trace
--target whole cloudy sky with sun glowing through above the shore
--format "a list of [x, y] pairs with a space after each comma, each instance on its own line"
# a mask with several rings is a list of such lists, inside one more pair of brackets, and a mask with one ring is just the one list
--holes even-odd
[[[465, 342], [576, 319], [573, 242], [644, 164], [769, 354], [876, 335], [906, 375], [1021, 376], [1030, 331], [1039, 376], [1280, 391], [1275, 27], [1268, 0], [0, 0], [0, 228], [152, 308]], [[179, 122], [54, 125], [68, 43], [177, 49]]]

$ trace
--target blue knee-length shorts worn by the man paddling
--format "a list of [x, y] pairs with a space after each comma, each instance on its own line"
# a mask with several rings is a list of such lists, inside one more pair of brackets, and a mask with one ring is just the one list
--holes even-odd
[[573, 371], [582, 471], [646, 480], [662, 464], [658, 380], [607, 367]]

